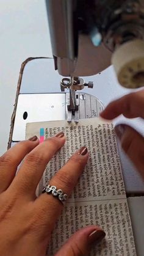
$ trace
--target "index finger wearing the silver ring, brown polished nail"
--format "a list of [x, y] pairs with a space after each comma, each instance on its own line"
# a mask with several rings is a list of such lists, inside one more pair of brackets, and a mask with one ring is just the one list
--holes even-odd
[[[62, 189], [64, 193], [70, 195], [77, 183], [77, 180], [84, 170], [87, 160], [87, 148], [82, 147], [78, 152], [71, 156], [67, 164], [65, 164], [65, 166], [63, 166], [62, 169], [57, 172], [49, 184], [51, 186], [56, 186], [57, 189]], [[49, 232], [51, 232], [56, 219], [60, 215], [63, 208], [62, 203], [59, 199], [52, 196], [52, 194], [44, 193], [41, 194], [41, 196], [35, 201], [35, 207], [39, 209], [39, 212], [41, 211], [40, 215], [43, 215], [43, 222], [47, 223]], [[46, 214], [42, 214], [43, 212]]]

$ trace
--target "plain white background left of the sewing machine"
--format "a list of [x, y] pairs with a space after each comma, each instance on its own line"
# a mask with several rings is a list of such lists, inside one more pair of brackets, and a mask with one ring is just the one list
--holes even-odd
[[0, 0], [0, 155], [7, 149], [21, 64], [38, 56], [52, 56], [45, 0]]

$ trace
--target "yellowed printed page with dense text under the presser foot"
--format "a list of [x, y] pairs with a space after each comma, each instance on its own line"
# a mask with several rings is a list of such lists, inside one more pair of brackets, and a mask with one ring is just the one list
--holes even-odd
[[56, 223], [48, 255], [54, 255], [74, 232], [85, 225], [94, 224], [104, 229], [106, 238], [93, 247], [90, 256], [135, 256], [134, 237], [113, 124], [99, 118], [82, 119], [79, 123], [28, 123], [26, 138], [34, 135], [40, 137], [41, 130], [43, 139], [63, 131], [67, 142], [46, 167], [37, 188], [38, 194], [77, 149], [86, 146], [90, 153], [84, 173]]

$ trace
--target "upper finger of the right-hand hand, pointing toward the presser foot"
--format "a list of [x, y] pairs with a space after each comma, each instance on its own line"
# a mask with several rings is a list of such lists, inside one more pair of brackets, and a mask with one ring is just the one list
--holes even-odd
[[118, 115], [123, 114], [125, 117], [134, 118], [142, 117], [144, 118], [144, 90], [139, 92], [130, 93], [124, 97], [112, 101], [103, 112], [101, 112], [101, 117], [104, 119], [112, 120]]

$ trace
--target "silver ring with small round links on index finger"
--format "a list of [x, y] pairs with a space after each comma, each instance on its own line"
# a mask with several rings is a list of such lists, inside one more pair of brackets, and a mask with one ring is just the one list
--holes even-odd
[[42, 193], [52, 194], [52, 196], [57, 197], [57, 199], [59, 199], [63, 204], [68, 199], [68, 195], [64, 194], [62, 189], [57, 189], [56, 186], [45, 186]]

